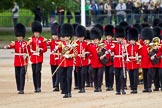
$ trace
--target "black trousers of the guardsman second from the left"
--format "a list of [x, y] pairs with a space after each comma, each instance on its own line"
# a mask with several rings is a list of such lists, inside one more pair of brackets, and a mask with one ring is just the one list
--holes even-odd
[[32, 64], [34, 88], [41, 88], [41, 70], [42, 63]]

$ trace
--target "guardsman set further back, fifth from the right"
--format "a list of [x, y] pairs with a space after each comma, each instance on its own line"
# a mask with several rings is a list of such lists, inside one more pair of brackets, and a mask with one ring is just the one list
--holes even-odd
[[106, 40], [104, 41], [104, 43], [107, 50], [106, 57], [108, 59], [108, 63], [105, 65], [106, 91], [113, 90], [114, 84], [113, 52], [112, 52], [112, 50], [115, 47], [115, 44], [113, 43], [114, 31], [115, 28], [113, 25], [105, 26]]

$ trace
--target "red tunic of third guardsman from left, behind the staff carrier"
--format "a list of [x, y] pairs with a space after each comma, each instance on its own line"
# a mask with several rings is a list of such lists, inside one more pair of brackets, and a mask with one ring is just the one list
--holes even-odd
[[47, 42], [47, 45], [50, 46], [50, 64], [51, 65], [58, 65], [58, 61], [60, 56], [56, 55], [56, 53], [59, 53], [58, 51], [58, 45], [56, 44], [56, 42], [58, 42], [59, 40], [50, 40]]

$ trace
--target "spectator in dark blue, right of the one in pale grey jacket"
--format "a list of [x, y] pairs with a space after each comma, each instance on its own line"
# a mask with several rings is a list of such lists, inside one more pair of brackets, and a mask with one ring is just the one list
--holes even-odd
[[132, 24], [133, 20], [132, 20], [132, 10], [133, 10], [133, 3], [131, 0], [127, 0], [126, 3], [126, 8], [127, 8], [127, 22], [129, 24]]

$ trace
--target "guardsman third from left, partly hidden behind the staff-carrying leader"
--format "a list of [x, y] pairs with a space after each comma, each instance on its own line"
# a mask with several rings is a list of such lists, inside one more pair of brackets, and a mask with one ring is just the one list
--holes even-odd
[[[51, 26], [51, 35], [52, 39], [47, 42], [47, 45], [50, 46], [50, 65], [51, 65], [51, 73], [52, 73], [52, 84], [53, 84], [53, 91], [59, 91], [59, 86], [55, 86], [56, 83], [56, 75], [58, 72], [56, 70], [58, 66], [58, 60], [60, 58], [60, 53], [58, 50], [57, 42], [59, 42], [58, 37], [58, 23], [53, 23]], [[54, 73], [55, 72], [55, 73]]]

